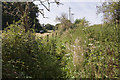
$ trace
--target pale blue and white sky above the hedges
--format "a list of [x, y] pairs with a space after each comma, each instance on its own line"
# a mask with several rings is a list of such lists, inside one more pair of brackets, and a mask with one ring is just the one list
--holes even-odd
[[[76, 19], [81, 19], [85, 17], [86, 20], [93, 24], [101, 24], [102, 23], [102, 14], [97, 15], [96, 6], [101, 5], [101, 1], [99, 0], [60, 0], [63, 5], [57, 6], [56, 4], [51, 4], [50, 12], [44, 8], [45, 17], [40, 14], [38, 16], [39, 22], [41, 24], [52, 24], [55, 25], [58, 22], [55, 21], [57, 16], [61, 16], [62, 13], [66, 13], [68, 15], [69, 7], [71, 7], [71, 12], [74, 13], [74, 21]], [[37, 5], [38, 2], [35, 2]], [[46, 4], [47, 5], [47, 4]], [[43, 6], [39, 6], [40, 9]]]

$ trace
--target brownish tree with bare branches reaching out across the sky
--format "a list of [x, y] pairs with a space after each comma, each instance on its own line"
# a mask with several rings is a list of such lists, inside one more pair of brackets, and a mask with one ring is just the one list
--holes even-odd
[[[33, 1], [35, 1], [35, 0], [33, 0]], [[60, 5], [60, 2], [57, 0], [54, 0], [54, 2], [50, 2], [50, 0], [45, 0], [45, 1], [38, 0], [38, 1], [40, 2], [39, 5], [42, 5], [48, 11], [50, 11], [50, 4], [51, 3], [56, 3], [57, 5]], [[44, 2], [47, 2], [48, 7], [44, 4]], [[8, 9], [8, 10], [5, 10], [6, 13], [9, 13], [12, 16], [17, 16], [22, 21], [26, 32], [30, 29], [30, 26], [31, 26], [30, 17], [29, 17], [29, 15], [31, 14], [31, 12], [30, 12], [31, 10], [36, 9], [37, 12], [40, 12], [43, 15], [43, 17], [45, 17], [44, 16], [44, 9], [37, 9], [38, 7], [35, 6], [33, 4], [33, 2], [31, 2], [31, 4], [30, 4], [30, 2], [24, 2], [24, 3], [13, 2], [11, 4], [5, 2], [5, 4], [7, 4], [7, 7], [4, 6], [5, 9]], [[10, 6], [10, 7], [8, 7], [8, 6]], [[14, 6], [14, 8], [11, 6]]]

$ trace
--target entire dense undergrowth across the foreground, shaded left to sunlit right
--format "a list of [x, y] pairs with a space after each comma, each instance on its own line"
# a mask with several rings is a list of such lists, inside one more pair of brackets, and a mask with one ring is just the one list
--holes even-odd
[[3, 78], [119, 78], [118, 25], [74, 26], [35, 39], [19, 22], [10, 25], [2, 33]]

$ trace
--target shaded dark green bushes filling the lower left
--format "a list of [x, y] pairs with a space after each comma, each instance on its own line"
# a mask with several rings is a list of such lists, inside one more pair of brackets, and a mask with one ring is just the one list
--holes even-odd
[[35, 34], [25, 32], [20, 22], [10, 25], [2, 35], [3, 78], [64, 76], [64, 47], [57, 47], [55, 39], [35, 39]]

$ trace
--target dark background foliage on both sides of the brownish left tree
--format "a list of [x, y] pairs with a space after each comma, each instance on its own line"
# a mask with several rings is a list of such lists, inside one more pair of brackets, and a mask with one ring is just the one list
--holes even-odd
[[[16, 14], [16, 6], [15, 5], [12, 5], [12, 4], [15, 4], [13, 2], [3, 2], [2, 3], [2, 9], [3, 9], [3, 12], [2, 12], [2, 29], [6, 28], [8, 25], [10, 24], [13, 24], [13, 21], [19, 21], [20, 20], [20, 15], [17, 15]], [[25, 6], [25, 2], [24, 3], [20, 3], [20, 4], [23, 4], [22, 6], [24, 7]], [[35, 29], [42, 29], [37, 17], [38, 15], [36, 15], [39, 11], [38, 11], [38, 7], [35, 6], [34, 3], [32, 2], [29, 2], [30, 4], [30, 11], [29, 11], [29, 23], [30, 23], [30, 28], [35, 28]], [[32, 8], [34, 7], [34, 8]], [[13, 12], [13, 13], [11, 13]], [[19, 12], [19, 14], [21, 14], [21, 12]]]

